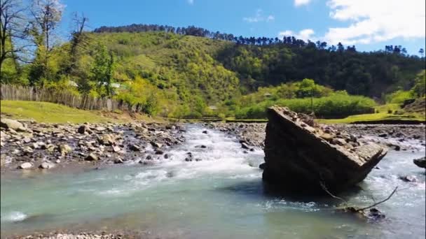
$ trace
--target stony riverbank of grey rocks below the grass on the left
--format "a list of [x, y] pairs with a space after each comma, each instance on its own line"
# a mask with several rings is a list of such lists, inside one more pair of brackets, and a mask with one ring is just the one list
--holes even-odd
[[50, 169], [84, 164], [153, 164], [184, 142], [179, 124], [43, 124], [1, 119], [1, 169]]

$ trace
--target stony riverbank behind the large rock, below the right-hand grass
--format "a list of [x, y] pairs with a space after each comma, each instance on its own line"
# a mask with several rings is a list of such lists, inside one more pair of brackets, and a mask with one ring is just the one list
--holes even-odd
[[[209, 128], [235, 134], [242, 142], [254, 147], [264, 147], [266, 123], [222, 123], [206, 124]], [[358, 138], [370, 137], [371, 140], [383, 143], [395, 150], [414, 150], [407, 141], [415, 141], [425, 147], [425, 124], [333, 124], [331, 128], [347, 131]], [[412, 143], [412, 142], [411, 142]]]

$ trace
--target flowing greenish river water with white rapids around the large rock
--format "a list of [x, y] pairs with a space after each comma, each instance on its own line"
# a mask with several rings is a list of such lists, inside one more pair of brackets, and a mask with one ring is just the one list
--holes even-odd
[[[1, 236], [141, 229], [160, 238], [425, 238], [425, 171], [412, 162], [424, 147], [390, 151], [362, 190], [341, 195], [362, 206], [402, 189], [378, 206], [385, 219], [366, 222], [335, 212], [340, 202], [330, 197], [275, 193], [261, 180], [261, 149], [246, 154], [233, 136], [203, 130], [188, 125], [186, 142], [153, 166], [2, 175]], [[201, 161], [185, 161], [187, 152]]]

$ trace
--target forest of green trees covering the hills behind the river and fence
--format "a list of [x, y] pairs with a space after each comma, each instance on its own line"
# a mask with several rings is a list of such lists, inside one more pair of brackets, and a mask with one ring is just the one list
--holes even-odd
[[114, 98], [177, 118], [258, 118], [272, 104], [343, 117], [424, 96], [423, 49], [420, 57], [401, 45], [359, 52], [294, 36], [157, 24], [88, 31], [82, 13], [64, 39], [57, 34], [63, 7], [57, 0], [1, 2], [2, 84]]

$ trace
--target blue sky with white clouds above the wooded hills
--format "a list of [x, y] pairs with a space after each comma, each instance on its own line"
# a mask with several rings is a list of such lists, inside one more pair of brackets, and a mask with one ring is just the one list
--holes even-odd
[[296, 36], [305, 41], [384, 50], [425, 49], [425, 0], [62, 0], [62, 33], [71, 14], [84, 13], [90, 29], [127, 24], [194, 25], [234, 36]]

